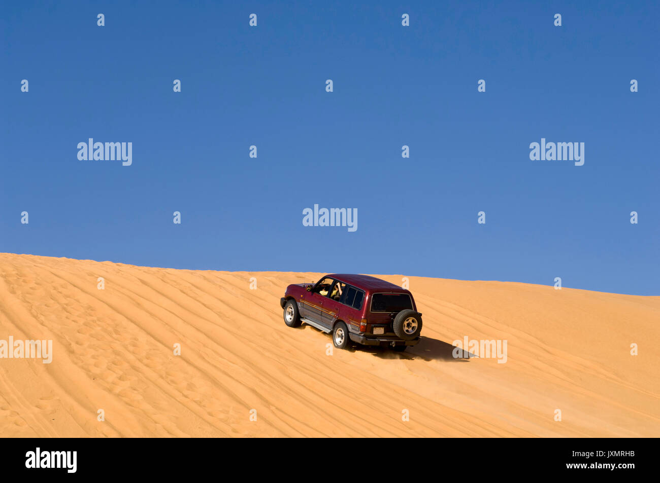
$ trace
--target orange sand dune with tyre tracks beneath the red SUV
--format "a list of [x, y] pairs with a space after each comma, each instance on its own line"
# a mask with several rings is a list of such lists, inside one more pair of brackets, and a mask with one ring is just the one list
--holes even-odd
[[[660, 297], [410, 277], [419, 345], [329, 356], [279, 306], [320, 275], [0, 254], [0, 339], [53, 341], [0, 359], [0, 435], [660, 436]], [[466, 335], [506, 364], [453, 358]]]

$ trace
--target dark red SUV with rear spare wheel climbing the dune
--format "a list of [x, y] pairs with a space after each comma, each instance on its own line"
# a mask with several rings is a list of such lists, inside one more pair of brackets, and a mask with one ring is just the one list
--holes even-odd
[[333, 334], [335, 347], [349, 341], [405, 351], [419, 342], [422, 314], [413, 294], [368, 275], [333, 273], [317, 283], [294, 283], [280, 299], [284, 323], [302, 322]]

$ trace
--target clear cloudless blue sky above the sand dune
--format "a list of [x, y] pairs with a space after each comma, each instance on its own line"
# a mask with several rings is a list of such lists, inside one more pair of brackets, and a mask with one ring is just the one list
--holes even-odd
[[[655, 2], [12, 4], [2, 252], [660, 295]], [[133, 164], [79, 161], [90, 137]]]

